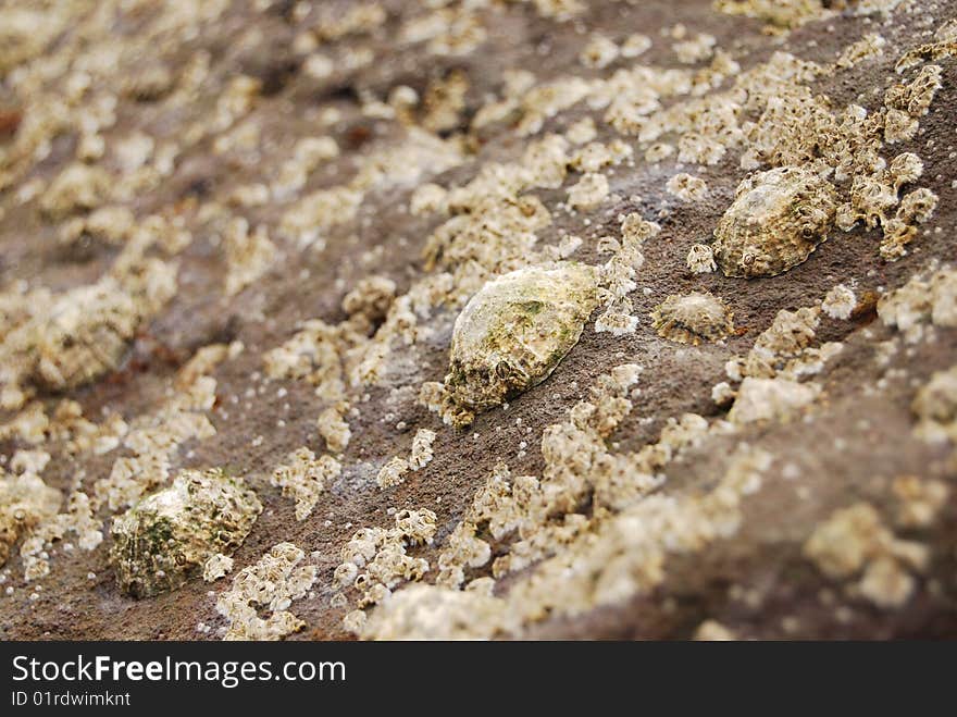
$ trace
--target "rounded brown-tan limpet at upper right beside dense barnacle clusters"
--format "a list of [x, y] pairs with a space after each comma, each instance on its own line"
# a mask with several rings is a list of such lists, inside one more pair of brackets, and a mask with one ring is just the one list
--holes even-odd
[[774, 276], [804, 262], [828, 238], [834, 187], [813, 172], [784, 166], [745, 180], [714, 231], [725, 276]]

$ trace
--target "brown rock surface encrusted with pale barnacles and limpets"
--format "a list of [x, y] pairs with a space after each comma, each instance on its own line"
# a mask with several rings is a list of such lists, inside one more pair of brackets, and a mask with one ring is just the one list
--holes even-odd
[[955, 44], [3, 4], [0, 639], [957, 635]]

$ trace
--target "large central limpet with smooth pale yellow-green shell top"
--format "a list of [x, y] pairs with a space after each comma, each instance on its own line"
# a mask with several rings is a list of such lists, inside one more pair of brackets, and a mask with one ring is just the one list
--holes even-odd
[[445, 379], [451, 399], [482, 411], [540, 383], [596, 306], [596, 272], [581, 264], [520, 269], [488, 282], [456, 320]]

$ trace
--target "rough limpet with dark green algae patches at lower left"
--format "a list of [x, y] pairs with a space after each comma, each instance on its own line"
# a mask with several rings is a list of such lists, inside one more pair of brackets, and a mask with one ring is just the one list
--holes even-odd
[[211, 556], [241, 545], [260, 512], [240, 479], [217, 468], [182, 471], [113, 519], [110, 557], [120, 589], [135, 597], [175, 590]]

